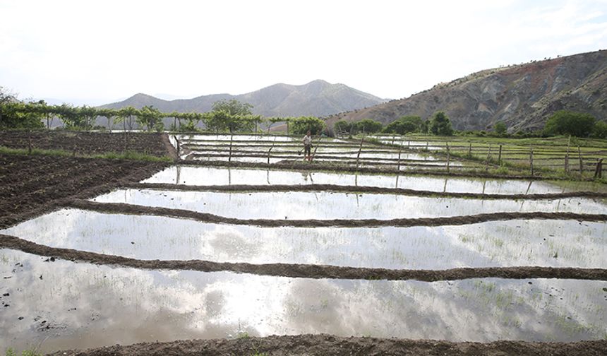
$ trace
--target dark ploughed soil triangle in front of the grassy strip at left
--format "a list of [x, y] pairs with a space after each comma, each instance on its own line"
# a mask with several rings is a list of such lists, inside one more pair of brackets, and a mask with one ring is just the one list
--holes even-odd
[[167, 163], [46, 155], [0, 155], [0, 227], [52, 210], [69, 198], [90, 198], [138, 182]]

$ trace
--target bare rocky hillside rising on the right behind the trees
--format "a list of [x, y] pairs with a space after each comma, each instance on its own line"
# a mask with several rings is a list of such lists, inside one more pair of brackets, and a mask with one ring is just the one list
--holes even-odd
[[508, 131], [541, 129], [556, 110], [607, 118], [607, 50], [488, 69], [435, 85], [401, 100], [330, 117], [383, 123], [443, 110], [458, 130], [483, 130], [504, 121]]

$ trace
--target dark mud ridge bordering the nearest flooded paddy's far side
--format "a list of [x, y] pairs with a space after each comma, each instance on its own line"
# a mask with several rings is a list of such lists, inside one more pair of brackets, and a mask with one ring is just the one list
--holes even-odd
[[452, 268], [447, 270], [390, 270], [386, 268], [360, 268], [296, 263], [230, 263], [201, 260], [161, 261], [138, 260], [122, 256], [97, 254], [75, 249], [61, 249], [36, 244], [19, 237], [0, 234], [0, 247], [16, 249], [28, 254], [53, 256], [68, 261], [82, 261], [102, 265], [142, 269], [190, 270], [202, 272], [231, 271], [256, 275], [273, 275], [292, 278], [335, 278], [367, 280], [461, 280], [468, 278], [565, 278], [579, 280], [607, 280], [607, 269], [553, 268], [553, 267], [484, 267]]

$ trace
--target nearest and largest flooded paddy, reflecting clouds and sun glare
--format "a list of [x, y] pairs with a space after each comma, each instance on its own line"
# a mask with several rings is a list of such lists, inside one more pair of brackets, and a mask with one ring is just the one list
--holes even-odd
[[603, 281], [313, 280], [45, 260], [0, 250], [0, 330], [16, 348], [244, 333], [572, 341], [606, 332]]

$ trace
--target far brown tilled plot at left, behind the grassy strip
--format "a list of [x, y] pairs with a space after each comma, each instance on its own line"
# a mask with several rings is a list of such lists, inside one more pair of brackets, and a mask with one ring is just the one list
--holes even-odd
[[83, 155], [125, 150], [157, 157], [168, 155], [162, 133], [0, 131], [0, 146], [28, 148], [30, 143], [32, 148], [75, 151]]

